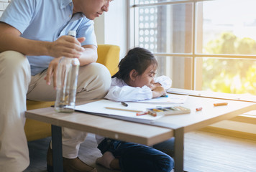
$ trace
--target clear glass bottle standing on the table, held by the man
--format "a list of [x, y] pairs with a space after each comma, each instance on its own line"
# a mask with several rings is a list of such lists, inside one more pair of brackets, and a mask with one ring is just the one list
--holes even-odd
[[[76, 31], [68, 35], [76, 37]], [[62, 57], [57, 70], [57, 95], [55, 111], [58, 113], [73, 113], [76, 105], [76, 87], [80, 62], [77, 58]]]

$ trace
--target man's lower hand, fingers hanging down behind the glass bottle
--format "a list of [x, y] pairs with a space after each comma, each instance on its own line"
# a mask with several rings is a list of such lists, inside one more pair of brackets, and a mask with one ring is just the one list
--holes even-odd
[[53, 87], [56, 90], [57, 87], [57, 69], [58, 69], [58, 64], [60, 61], [61, 57], [52, 59], [52, 61], [49, 64], [48, 70], [47, 70], [47, 75], [45, 77], [47, 85], [50, 85], [51, 78], [53, 80]]

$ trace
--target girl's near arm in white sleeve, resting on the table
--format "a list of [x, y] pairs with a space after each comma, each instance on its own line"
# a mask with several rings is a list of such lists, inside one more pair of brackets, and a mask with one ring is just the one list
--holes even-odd
[[150, 87], [130, 87], [130, 86], [111, 86], [106, 99], [121, 101], [138, 101], [147, 100], [152, 98], [152, 91]]

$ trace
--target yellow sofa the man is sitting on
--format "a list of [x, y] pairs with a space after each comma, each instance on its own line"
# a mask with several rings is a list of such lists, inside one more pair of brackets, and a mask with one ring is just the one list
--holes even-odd
[[[111, 75], [114, 75], [118, 70], [120, 48], [116, 45], [99, 44], [98, 45], [98, 60], [97, 62], [105, 65]], [[37, 108], [47, 108], [54, 105], [54, 102], [36, 102], [27, 100], [27, 110]], [[27, 119], [24, 127], [27, 140], [37, 140], [47, 138], [51, 135], [50, 124], [42, 123], [37, 120]]]

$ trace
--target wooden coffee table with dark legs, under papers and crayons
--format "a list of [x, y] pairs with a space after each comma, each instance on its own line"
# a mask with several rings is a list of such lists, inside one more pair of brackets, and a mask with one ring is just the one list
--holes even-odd
[[[228, 105], [214, 107], [215, 102], [228, 102]], [[25, 115], [26, 118], [52, 125], [54, 171], [63, 171], [61, 128], [65, 127], [145, 145], [153, 145], [175, 137], [175, 171], [180, 172], [183, 171], [184, 133], [256, 109], [255, 102], [223, 100], [216, 97], [188, 96], [182, 105], [190, 108], [191, 113], [169, 115], [143, 123], [114, 119], [110, 115], [56, 113], [53, 108], [28, 110]], [[198, 107], [203, 109], [197, 112]]]

